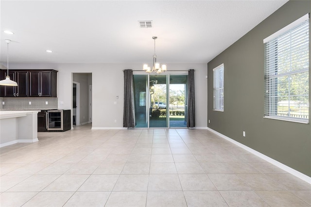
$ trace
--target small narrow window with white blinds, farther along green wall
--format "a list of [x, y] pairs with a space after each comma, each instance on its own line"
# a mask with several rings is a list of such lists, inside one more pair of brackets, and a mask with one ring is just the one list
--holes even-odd
[[215, 111], [224, 111], [224, 64], [213, 69]]

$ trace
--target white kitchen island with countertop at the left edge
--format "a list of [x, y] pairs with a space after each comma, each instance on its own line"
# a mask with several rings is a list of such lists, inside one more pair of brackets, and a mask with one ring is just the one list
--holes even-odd
[[0, 110], [0, 147], [38, 141], [40, 110]]

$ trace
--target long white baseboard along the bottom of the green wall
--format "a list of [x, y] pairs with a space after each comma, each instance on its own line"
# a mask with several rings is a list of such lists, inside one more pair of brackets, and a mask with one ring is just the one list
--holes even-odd
[[244, 144], [241, 144], [240, 142], [238, 142], [238, 141], [236, 141], [236, 140], [234, 140], [232, 138], [228, 138], [227, 136], [225, 136], [225, 135], [223, 135], [223, 134], [221, 134], [221, 133], [219, 133], [219, 132], [217, 132], [217, 131], [215, 131], [215, 130], [213, 130], [211, 128], [207, 127], [207, 130], [215, 133], [216, 135], [220, 136], [221, 138], [225, 138], [226, 140], [232, 142], [233, 144], [236, 144], [239, 147], [242, 147], [244, 150], [246, 150], [246, 151], [248, 151], [248, 152], [250, 152], [250, 153], [252, 153], [254, 155], [259, 156], [260, 158], [266, 160], [267, 162], [270, 162], [271, 164], [275, 165], [276, 167], [279, 167], [280, 169], [282, 169], [282, 170], [284, 170], [284, 171], [286, 171], [288, 173], [291, 173], [294, 176], [296, 176], [296, 177], [306, 181], [307, 183], [311, 184], [311, 177], [309, 177], [308, 175], [300, 173], [299, 171], [296, 171], [293, 168], [290, 168], [287, 165], [284, 165], [284, 164], [276, 161], [275, 159], [272, 159], [271, 157], [269, 157], [267, 155], [263, 155], [263, 154], [259, 153], [258, 151], [254, 150], [254, 149], [252, 149], [250, 147], [247, 147]]

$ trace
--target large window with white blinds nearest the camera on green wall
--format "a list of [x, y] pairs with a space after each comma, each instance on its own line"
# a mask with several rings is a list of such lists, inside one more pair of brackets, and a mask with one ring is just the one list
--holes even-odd
[[309, 14], [264, 43], [264, 117], [309, 123]]

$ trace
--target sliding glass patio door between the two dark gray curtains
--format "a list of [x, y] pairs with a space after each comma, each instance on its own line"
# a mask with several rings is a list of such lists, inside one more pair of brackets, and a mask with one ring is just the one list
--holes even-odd
[[135, 127], [186, 127], [187, 77], [170, 74], [135, 74]]

